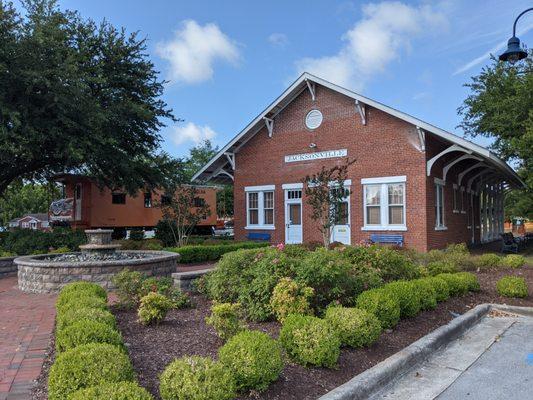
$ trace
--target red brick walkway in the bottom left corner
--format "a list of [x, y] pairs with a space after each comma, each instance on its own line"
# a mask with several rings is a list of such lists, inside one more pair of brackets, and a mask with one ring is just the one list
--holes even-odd
[[55, 295], [26, 294], [0, 279], [0, 400], [30, 399], [54, 327]]

